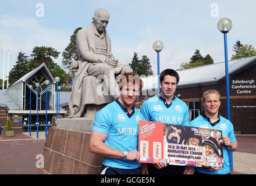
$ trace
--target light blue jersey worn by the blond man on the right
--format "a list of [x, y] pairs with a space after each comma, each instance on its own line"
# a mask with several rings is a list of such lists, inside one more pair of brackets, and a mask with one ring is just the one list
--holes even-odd
[[[190, 126], [200, 127], [200, 128], [209, 128], [213, 130], [222, 130], [222, 137], [227, 136], [229, 137], [231, 142], [236, 141], [236, 137], [234, 136], [233, 124], [229, 120], [225, 119], [225, 117], [222, 117], [221, 115], [219, 115], [218, 121], [216, 121], [214, 124], [211, 124], [211, 121], [207, 119], [207, 116], [205, 116], [203, 112], [202, 115], [198, 116], [197, 118], [195, 118], [193, 121], [190, 122]], [[224, 160], [223, 169], [219, 169], [216, 171], [209, 171], [205, 167], [195, 167], [195, 170], [205, 174], [228, 174], [230, 172], [229, 155], [225, 145], [223, 145], [223, 160]]]

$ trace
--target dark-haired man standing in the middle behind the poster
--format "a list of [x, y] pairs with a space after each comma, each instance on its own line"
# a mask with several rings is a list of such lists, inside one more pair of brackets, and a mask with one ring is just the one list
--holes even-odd
[[[141, 105], [141, 120], [189, 126], [189, 109], [186, 103], [175, 96], [179, 74], [173, 69], [160, 74], [161, 92]], [[175, 166], [166, 163], [143, 164], [143, 174], [192, 174], [193, 167]]]

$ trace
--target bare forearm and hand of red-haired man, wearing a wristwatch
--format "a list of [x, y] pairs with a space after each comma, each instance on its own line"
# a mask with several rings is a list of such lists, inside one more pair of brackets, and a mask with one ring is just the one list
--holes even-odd
[[[91, 131], [89, 145], [90, 152], [97, 153], [98, 155], [106, 158], [123, 158], [123, 151], [113, 149], [104, 143], [106, 137], [108, 137], [108, 135], [97, 131]], [[140, 153], [136, 150], [130, 151], [128, 152], [126, 159], [136, 160], [138, 162], [140, 160]]]

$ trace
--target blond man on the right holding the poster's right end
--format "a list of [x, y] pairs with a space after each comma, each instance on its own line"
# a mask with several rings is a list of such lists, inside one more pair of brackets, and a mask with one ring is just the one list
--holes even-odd
[[[213, 130], [222, 130], [223, 137], [223, 168], [205, 168], [195, 167], [195, 174], [230, 174], [229, 155], [228, 151], [236, 151], [237, 141], [234, 136], [233, 124], [219, 115], [219, 106], [221, 106], [221, 95], [216, 90], [205, 91], [202, 95], [202, 104], [204, 105], [204, 112], [193, 121], [191, 127], [209, 128]], [[218, 142], [212, 138], [207, 138], [202, 141], [201, 146], [206, 146], [207, 155], [211, 153], [219, 153]], [[217, 148], [216, 148], [217, 146]]]

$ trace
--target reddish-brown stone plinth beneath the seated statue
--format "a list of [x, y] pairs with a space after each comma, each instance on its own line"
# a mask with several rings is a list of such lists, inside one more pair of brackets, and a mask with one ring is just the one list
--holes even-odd
[[40, 174], [99, 174], [103, 158], [89, 151], [93, 119], [58, 119], [49, 128]]

